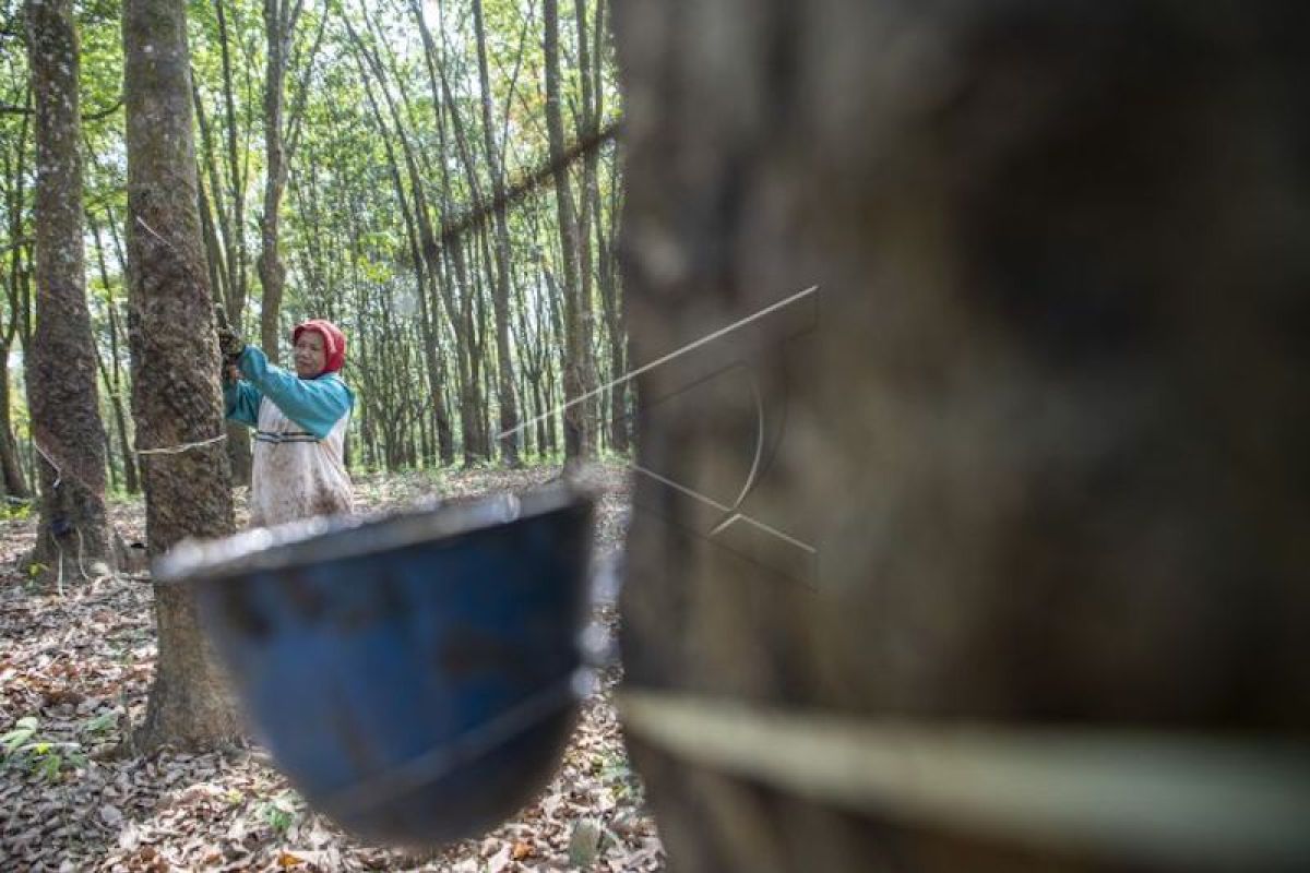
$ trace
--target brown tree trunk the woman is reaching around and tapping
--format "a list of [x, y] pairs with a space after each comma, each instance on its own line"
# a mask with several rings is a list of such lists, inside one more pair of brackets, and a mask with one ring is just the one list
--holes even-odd
[[[219, 349], [196, 213], [186, 7], [127, 0], [128, 339], [132, 414], [147, 448], [223, 432]], [[151, 556], [186, 537], [232, 533], [232, 483], [221, 444], [143, 458]], [[240, 733], [237, 713], [186, 588], [155, 585], [159, 662], [143, 749], [207, 746]]]

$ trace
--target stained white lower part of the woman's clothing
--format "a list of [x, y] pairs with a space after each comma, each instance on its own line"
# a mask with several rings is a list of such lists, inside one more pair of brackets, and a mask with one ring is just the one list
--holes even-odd
[[350, 414], [320, 440], [288, 419], [278, 404], [259, 401], [250, 488], [250, 526], [351, 510], [345, 446]]

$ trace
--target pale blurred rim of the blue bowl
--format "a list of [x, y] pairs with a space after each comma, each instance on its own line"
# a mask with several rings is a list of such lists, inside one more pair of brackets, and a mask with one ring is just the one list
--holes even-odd
[[[588, 490], [554, 483], [469, 503], [421, 504], [398, 514], [305, 518], [223, 539], [185, 539], [155, 561], [152, 576], [160, 582], [189, 582], [321, 564], [448, 539], [571, 505], [584, 505], [590, 514], [593, 503]], [[342, 535], [364, 531], [369, 535]]]

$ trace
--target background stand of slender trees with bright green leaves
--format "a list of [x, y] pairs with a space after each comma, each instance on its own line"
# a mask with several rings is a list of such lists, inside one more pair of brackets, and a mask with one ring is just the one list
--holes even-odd
[[[620, 165], [603, 135], [622, 113], [609, 9], [565, 7], [550, 65], [534, 0], [187, 4], [210, 284], [233, 326], [274, 357], [304, 318], [343, 327], [359, 399], [352, 466], [559, 455], [563, 415], [552, 411], [566, 385], [575, 397], [622, 370]], [[16, 496], [37, 469], [28, 406], [9, 391], [34, 330], [22, 14], [18, 0], [0, 1], [0, 351], [10, 352], [0, 461]], [[119, 4], [76, 3], [75, 18], [100, 412], [110, 486], [135, 490]], [[566, 190], [549, 173], [552, 94], [555, 157], [572, 158], [558, 174]], [[570, 211], [557, 209], [559, 196]], [[580, 404], [591, 438], [570, 450], [625, 450], [627, 404], [622, 386]]]

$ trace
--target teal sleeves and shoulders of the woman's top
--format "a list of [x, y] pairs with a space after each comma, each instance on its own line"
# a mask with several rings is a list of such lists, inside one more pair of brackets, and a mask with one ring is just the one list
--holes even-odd
[[259, 401], [269, 398], [283, 415], [324, 440], [355, 406], [354, 393], [335, 373], [303, 380], [270, 364], [254, 346], [246, 346], [237, 366], [245, 381], [223, 386], [224, 414], [232, 421], [259, 427]]

